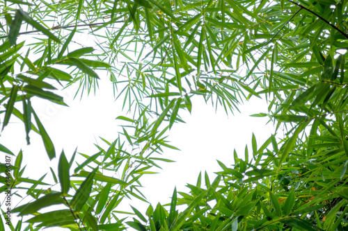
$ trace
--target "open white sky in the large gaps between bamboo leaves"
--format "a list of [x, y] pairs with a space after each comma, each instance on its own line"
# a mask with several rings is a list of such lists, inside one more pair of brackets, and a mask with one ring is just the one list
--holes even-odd
[[[115, 120], [116, 117], [124, 112], [120, 111], [122, 99], [114, 101], [113, 89], [110, 81], [104, 79], [100, 81], [100, 89], [96, 95], [84, 96], [74, 99], [76, 87], [65, 89], [62, 96], [70, 107], [49, 103], [48, 101], [37, 99], [33, 100], [33, 108], [39, 115], [49, 136], [54, 142], [56, 155], [59, 157], [61, 150], [64, 149], [68, 160], [72, 156], [74, 149], [78, 146], [78, 152], [93, 155], [97, 153], [94, 144], [102, 143], [99, 137], [113, 141], [118, 136], [118, 126], [122, 121]], [[186, 183], [196, 184], [196, 179], [200, 171], [209, 173], [213, 180], [214, 172], [221, 171], [216, 159], [226, 166], [233, 163], [233, 150], [236, 148], [239, 157], [244, 157], [246, 144], [251, 150], [251, 135], [255, 133], [258, 144], [262, 144], [273, 130], [271, 124], [266, 126], [266, 117], [249, 117], [250, 114], [267, 112], [267, 104], [262, 99], [252, 97], [251, 101], [241, 105], [239, 110], [242, 114], [235, 112], [235, 116], [226, 113], [219, 108], [215, 113], [212, 105], [205, 105], [200, 96], [192, 99], [192, 114], [182, 110], [182, 119], [186, 123], [175, 123], [169, 132], [171, 145], [177, 146], [181, 151], [164, 150], [162, 157], [175, 160], [173, 163], [160, 162], [163, 170], [159, 174], [143, 176], [142, 193], [148, 198], [152, 206], [158, 202], [162, 205], [170, 203], [170, 197], [176, 186], [178, 191], [187, 191]], [[24, 124], [12, 118], [10, 125], [3, 130], [0, 137], [0, 144], [5, 145], [16, 155], [20, 148], [24, 151], [23, 164], [27, 165], [24, 177], [30, 176], [39, 179], [45, 173], [53, 182], [49, 166], [56, 171], [58, 158], [49, 161], [41, 138], [30, 133], [31, 145], [26, 146]], [[4, 158], [4, 155], [3, 157]], [[15, 159], [13, 159], [14, 162]], [[82, 160], [76, 159], [75, 160]], [[83, 159], [84, 160], [84, 159]], [[81, 163], [82, 161], [80, 161]], [[47, 180], [45, 181], [47, 182]], [[54, 187], [60, 190], [59, 185]], [[26, 198], [29, 199], [29, 198]], [[125, 201], [122, 206], [128, 204], [137, 206], [140, 211], [145, 213], [148, 205], [139, 200]], [[17, 203], [13, 203], [17, 205]], [[127, 208], [126, 208], [127, 209]], [[118, 208], [118, 210], [122, 210]], [[129, 209], [129, 211], [131, 211]], [[53, 228], [52, 230], [58, 230]]]

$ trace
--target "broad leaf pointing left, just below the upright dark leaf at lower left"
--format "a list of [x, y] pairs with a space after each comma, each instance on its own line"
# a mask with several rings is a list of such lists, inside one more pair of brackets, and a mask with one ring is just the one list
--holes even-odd
[[44, 207], [63, 203], [64, 200], [61, 197], [61, 192], [54, 191], [45, 196], [42, 196], [41, 198], [36, 199], [32, 203], [16, 207], [15, 209], [12, 209], [11, 212], [19, 212], [20, 216], [24, 216], [27, 214], [35, 214], [39, 209], [42, 209]]

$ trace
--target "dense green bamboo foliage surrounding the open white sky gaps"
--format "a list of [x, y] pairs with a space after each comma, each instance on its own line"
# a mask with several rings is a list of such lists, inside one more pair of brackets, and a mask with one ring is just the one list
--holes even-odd
[[[52, 191], [45, 176], [25, 178], [22, 152], [17, 154], [11, 187], [33, 201], [13, 209], [25, 223], [10, 229], [347, 229], [347, 1], [8, 0], [0, 5], [2, 129], [18, 117], [27, 143], [30, 132], [37, 132], [52, 160], [54, 143], [31, 99], [65, 105], [52, 83], [79, 83], [79, 92], [90, 93], [100, 79], [97, 69], [107, 71], [128, 112], [118, 117], [124, 122], [120, 136], [104, 140], [109, 148], [79, 153], [86, 161], [77, 166], [77, 152], [72, 160], [61, 153], [58, 173], [52, 170], [61, 191]], [[81, 33], [93, 35], [95, 46], [79, 44], [74, 38]], [[206, 173], [204, 181], [199, 175], [196, 185], [187, 185], [190, 194], [175, 190], [168, 207], [150, 205], [146, 216], [134, 207], [133, 221], [118, 219], [113, 211], [122, 198], [145, 201], [141, 176], [170, 161], [152, 154], [174, 148], [168, 129], [182, 121], [182, 110], [191, 112], [192, 97], [229, 113], [255, 96], [269, 102], [269, 114], [255, 116], [268, 116], [284, 134], [260, 147], [253, 137], [244, 157], [234, 153], [233, 166], [219, 162], [221, 172], [212, 182]], [[13, 155], [6, 144], [0, 149]], [[1, 182], [3, 191], [6, 178]], [[40, 213], [57, 204], [65, 209]], [[177, 205], [186, 207], [178, 212]]]

